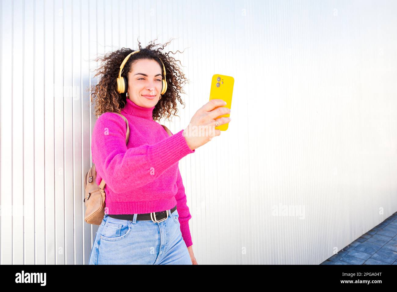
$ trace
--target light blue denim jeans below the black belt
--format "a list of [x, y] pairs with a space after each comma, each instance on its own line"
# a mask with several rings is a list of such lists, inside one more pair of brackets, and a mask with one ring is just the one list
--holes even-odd
[[[121, 220], [105, 214], [96, 232], [89, 265], [191, 265], [178, 212], [166, 220]], [[161, 219], [161, 218], [160, 218]]]

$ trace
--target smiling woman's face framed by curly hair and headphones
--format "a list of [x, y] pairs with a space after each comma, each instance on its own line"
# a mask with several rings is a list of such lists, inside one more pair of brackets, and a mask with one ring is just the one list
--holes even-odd
[[138, 60], [128, 73], [128, 98], [145, 108], [155, 106], [162, 89], [161, 72], [155, 60]]

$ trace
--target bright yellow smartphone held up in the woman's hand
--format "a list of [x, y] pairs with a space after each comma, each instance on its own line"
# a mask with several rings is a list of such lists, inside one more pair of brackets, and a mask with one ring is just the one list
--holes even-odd
[[[212, 76], [211, 81], [211, 91], [210, 91], [210, 100], [211, 99], [222, 99], [227, 104], [222, 107], [227, 107], [231, 109], [231, 97], [233, 95], [233, 85], [234, 85], [234, 78], [227, 75], [222, 74], [214, 74]], [[222, 118], [222, 117], [229, 117], [230, 114], [224, 114], [222, 116], [218, 116], [215, 118]], [[220, 126], [215, 127], [216, 130], [226, 131], [229, 127], [229, 123], [223, 124]]]

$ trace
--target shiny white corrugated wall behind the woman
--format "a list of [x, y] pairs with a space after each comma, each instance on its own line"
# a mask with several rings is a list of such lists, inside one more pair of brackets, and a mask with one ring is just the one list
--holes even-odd
[[208, 101], [212, 74], [235, 78], [229, 129], [179, 162], [199, 264], [319, 264], [397, 211], [397, 2], [0, 10], [1, 264], [87, 264], [92, 59], [138, 37], [183, 52], [173, 133]]

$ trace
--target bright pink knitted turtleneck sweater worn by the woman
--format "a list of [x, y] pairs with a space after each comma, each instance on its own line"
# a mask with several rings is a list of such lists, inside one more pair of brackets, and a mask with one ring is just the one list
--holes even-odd
[[106, 182], [108, 214], [142, 214], [172, 209], [177, 205], [181, 233], [187, 247], [192, 245], [191, 214], [178, 162], [194, 153], [182, 135], [169, 136], [152, 118], [154, 106], [145, 108], [127, 99], [121, 110], [129, 124], [112, 112], [96, 120], [91, 143], [96, 183]]

